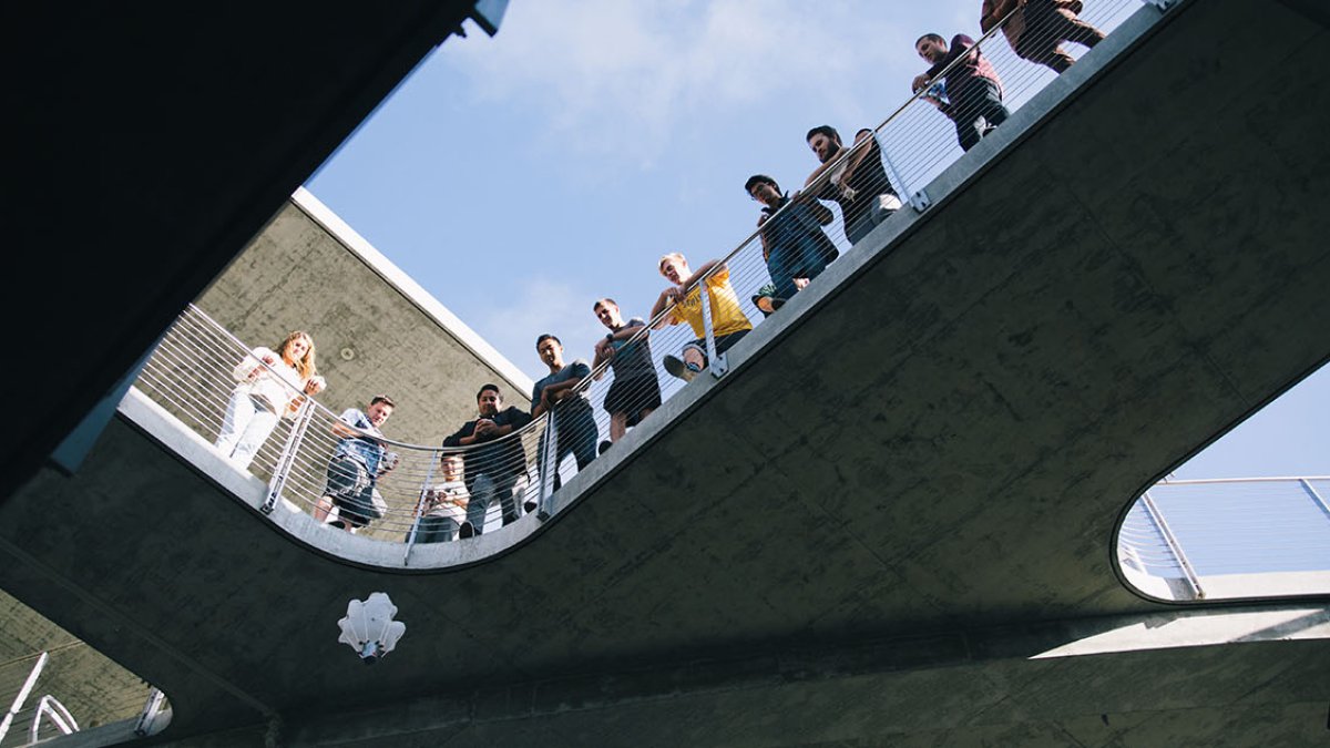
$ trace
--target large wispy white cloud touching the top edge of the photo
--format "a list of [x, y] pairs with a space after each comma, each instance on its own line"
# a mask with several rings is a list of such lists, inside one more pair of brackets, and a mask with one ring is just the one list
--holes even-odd
[[451, 63], [484, 96], [537, 105], [541, 136], [644, 166], [682, 124], [771, 97], [858, 121], [862, 97], [876, 110], [883, 88], [907, 94], [907, 79], [879, 80], [907, 36], [867, 3], [540, 0], [515, 3], [495, 40], [458, 45]]

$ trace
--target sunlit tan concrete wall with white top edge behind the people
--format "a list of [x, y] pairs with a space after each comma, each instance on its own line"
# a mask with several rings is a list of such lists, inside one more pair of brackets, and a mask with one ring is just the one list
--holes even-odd
[[485, 382], [499, 383], [512, 402], [532, 386], [305, 190], [196, 305], [250, 346], [307, 330], [329, 382], [319, 401], [340, 413], [388, 394], [398, 410], [386, 434], [402, 442], [439, 443], [475, 417], [475, 393]]

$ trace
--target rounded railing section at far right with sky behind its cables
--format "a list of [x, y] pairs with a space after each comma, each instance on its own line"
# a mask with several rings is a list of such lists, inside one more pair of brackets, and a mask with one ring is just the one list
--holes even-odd
[[1117, 562], [1165, 600], [1330, 594], [1330, 475], [1162, 480], [1128, 510]]

